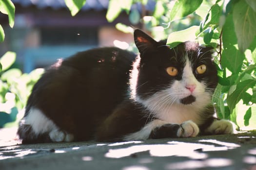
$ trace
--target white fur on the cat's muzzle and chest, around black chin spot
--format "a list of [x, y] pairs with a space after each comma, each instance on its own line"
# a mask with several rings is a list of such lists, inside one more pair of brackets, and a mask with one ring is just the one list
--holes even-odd
[[[191, 92], [186, 86], [194, 85]], [[180, 100], [193, 95], [196, 101], [184, 105]], [[138, 99], [150, 110], [151, 116], [162, 119], [168, 123], [182, 123], [193, 120], [198, 125], [202, 123], [199, 115], [202, 109], [211, 102], [211, 95], [205, 92], [205, 85], [197, 81], [193, 74], [191, 64], [187, 60], [183, 69], [182, 79], [175, 80], [169, 88], [161, 90], [147, 99]]]

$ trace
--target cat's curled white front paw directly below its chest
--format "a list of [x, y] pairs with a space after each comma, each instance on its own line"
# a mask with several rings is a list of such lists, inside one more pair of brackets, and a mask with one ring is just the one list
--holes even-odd
[[178, 137], [195, 137], [199, 133], [199, 128], [192, 120], [184, 121], [177, 131]]

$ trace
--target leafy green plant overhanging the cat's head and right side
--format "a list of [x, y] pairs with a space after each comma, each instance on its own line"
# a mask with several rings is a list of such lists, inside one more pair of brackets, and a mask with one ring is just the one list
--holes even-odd
[[[171, 48], [188, 40], [215, 47], [219, 84], [212, 102], [217, 116], [231, 119], [240, 130], [256, 129], [255, 0], [156, 0], [155, 10], [146, 15], [147, 2], [110, 0], [106, 18], [112, 22], [124, 11], [132, 24], [140, 23], [157, 39], [167, 38]], [[132, 8], [135, 3], [142, 5], [140, 12]], [[116, 27], [133, 31], [122, 23]]]

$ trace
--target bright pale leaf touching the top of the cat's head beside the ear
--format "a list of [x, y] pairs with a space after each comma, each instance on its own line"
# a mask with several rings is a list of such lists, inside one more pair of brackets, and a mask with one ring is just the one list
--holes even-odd
[[169, 45], [171, 48], [174, 48], [181, 42], [193, 41], [197, 38], [196, 33], [198, 30], [199, 26], [192, 26], [185, 30], [171, 33], [168, 36], [167, 45]]

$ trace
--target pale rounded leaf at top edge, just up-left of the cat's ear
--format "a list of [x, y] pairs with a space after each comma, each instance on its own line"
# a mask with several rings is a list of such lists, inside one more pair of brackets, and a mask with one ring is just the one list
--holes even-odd
[[106, 14], [108, 22], [113, 22], [121, 13], [121, 11], [122, 8], [120, 6], [119, 0], [109, 0], [108, 11]]

